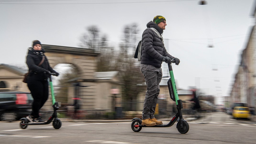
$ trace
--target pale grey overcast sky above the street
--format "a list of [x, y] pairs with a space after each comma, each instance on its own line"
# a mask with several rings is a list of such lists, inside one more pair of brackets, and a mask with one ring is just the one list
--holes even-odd
[[[108, 36], [110, 45], [117, 46], [125, 25], [137, 23], [141, 35], [154, 16], [162, 15], [167, 22], [163, 33], [166, 49], [181, 61], [178, 66], [173, 65], [178, 87], [197, 86], [207, 94], [228, 96], [241, 51], [255, 25], [255, 3], [206, 2], [207, 5], [198, 5], [199, 0], [0, 0], [0, 64], [24, 66], [33, 40], [78, 47], [81, 34], [92, 25]], [[166, 67], [163, 71], [167, 75]]]

